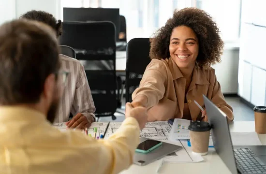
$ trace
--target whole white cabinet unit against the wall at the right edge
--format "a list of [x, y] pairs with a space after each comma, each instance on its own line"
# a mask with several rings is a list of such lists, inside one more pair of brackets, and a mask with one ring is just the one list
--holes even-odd
[[266, 0], [242, 0], [238, 95], [266, 105]]

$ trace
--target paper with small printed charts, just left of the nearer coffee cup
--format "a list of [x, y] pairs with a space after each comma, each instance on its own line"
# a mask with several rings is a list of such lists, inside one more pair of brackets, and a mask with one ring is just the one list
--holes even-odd
[[169, 140], [190, 139], [189, 125], [190, 120], [176, 118], [169, 134]]

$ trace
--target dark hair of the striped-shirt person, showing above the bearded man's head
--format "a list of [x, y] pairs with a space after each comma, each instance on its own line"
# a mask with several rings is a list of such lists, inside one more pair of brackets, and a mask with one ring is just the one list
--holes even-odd
[[50, 27], [52, 27], [52, 29], [54, 29], [56, 31], [57, 37], [62, 35], [62, 21], [56, 20], [56, 18], [53, 16], [53, 14], [49, 14], [49, 13], [44, 12], [44, 11], [32, 10], [32, 11], [29, 11], [25, 14], [22, 14], [20, 16], [20, 18], [43, 22], [43, 23], [49, 25]]

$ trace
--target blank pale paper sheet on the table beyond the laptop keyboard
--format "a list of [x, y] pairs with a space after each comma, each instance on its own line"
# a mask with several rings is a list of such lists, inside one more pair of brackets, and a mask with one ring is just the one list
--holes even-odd
[[256, 132], [231, 132], [233, 145], [262, 145]]

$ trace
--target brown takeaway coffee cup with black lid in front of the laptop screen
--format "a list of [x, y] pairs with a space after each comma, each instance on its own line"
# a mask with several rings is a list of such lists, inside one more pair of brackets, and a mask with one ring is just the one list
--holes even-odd
[[192, 152], [207, 155], [210, 136], [210, 124], [205, 121], [191, 121], [189, 125]]

